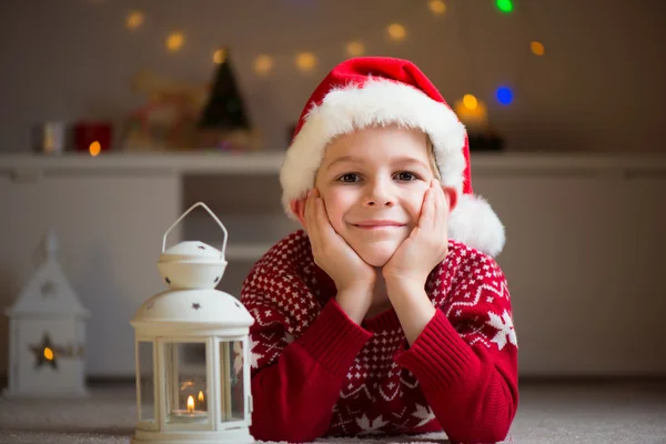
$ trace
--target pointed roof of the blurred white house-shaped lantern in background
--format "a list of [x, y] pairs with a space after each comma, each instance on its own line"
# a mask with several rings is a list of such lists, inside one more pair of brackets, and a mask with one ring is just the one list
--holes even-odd
[[11, 307], [10, 317], [88, 317], [90, 312], [79, 302], [72, 285], [57, 259], [58, 239], [50, 230], [40, 245], [43, 262], [19, 293]]

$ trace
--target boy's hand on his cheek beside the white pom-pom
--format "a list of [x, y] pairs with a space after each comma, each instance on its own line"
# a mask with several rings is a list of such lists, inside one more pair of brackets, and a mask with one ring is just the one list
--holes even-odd
[[421, 216], [412, 233], [397, 248], [382, 273], [386, 285], [425, 286], [430, 272], [448, 251], [448, 199], [433, 180], [423, 198]]

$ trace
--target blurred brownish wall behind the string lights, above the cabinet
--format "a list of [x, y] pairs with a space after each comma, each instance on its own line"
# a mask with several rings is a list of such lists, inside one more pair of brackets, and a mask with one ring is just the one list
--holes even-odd
[[[130, 79], [142, 69], [205, 84], [212, 53], [230, 44], [253, 123], [266, 149], [286, 132], [321, 78], [346, 58], [351, 40], [367, 54], [408, 58], [450, 102], [486, 100], [513, 151], [666, 151], [666, 2], [662, 0], [515, 0], [511, 14], [492, 0], [4, 0], [0, 13], [0, 152], [28, 151], [36, 122], [111, 119], [145, 102]], [[143, 24], [125, 27], [131, 11]], [[393, 42], [386, 26], [406, 38]], [[176, 53], [164, 40], [182, 31]], [[529, 52], [532, 40], [546, 53]], [[316, 68], [294, 67], [311, 51]], [[258, 54], [274, 58], [269, 75]], [[501, 84], [515, 100], [494, 100]]]

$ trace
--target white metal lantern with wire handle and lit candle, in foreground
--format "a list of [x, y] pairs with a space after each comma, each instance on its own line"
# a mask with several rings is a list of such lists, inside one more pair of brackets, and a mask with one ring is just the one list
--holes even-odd
[[[222, 250], [199, 241], [168, 250], [169, 232], [203, 206], [224, 232]], [[135, 333], [137, 407], [132, 443], [253, 443], [248, 337], [254, 323], [231, 294], [215, 290], [228, 232], [202, 202], [167, 230], [158, 269], [169, 290], [143, 303]]]

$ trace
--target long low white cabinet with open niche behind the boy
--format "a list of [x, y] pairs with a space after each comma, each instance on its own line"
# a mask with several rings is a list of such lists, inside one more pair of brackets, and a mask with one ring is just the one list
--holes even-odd
[[[498, 262], [513, 297], [522, 375], [666, 374], [666, 158], [473, 153], [473, 185], [507, 230]], [[88, 324], [87, 371], [133, 375], [129, 320], [163, 290], [162, 235], [204, 201], [229, 230], [220, 289], [297, 225], [283, 213], [280, 154], [0, 157], [0, 306], [11, 305], [48, 228]], [[170, 234], [220, 243], [206, 213]], [[219, 245], [216, 245], [219, 246]], [[0, 375], [7, 373], [0, 319]]]

